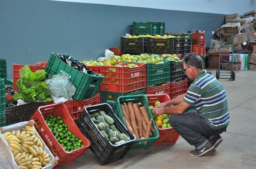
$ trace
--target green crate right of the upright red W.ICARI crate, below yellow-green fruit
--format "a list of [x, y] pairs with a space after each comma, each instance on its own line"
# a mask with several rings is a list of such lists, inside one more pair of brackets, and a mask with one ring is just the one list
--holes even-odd
[[170, 82], [170, 61], [162, 64], [146, 64], [146, 86]]

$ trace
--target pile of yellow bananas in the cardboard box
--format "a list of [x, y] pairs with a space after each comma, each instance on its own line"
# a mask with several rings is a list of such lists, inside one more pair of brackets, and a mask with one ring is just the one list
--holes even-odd
[[25, 126], [16, 132], [5, 132], [3, 137], [8, 142], [19, 169], [41, 169], [49, 163], [49, 154], [43, 150], [43, 143], [36, 137], [33, 127]]

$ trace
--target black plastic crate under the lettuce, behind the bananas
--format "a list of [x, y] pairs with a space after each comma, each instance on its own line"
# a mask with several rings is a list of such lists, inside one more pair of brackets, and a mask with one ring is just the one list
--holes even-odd
[[[9, 105], [10, 103], [17, 103], [17, 101], [13, 99], [6, 100], [6, 104]], [[44, 102], [35, 101], [32, 103], [6, 108], [6, 126], [22, 121], [29, 121], [30, 117], [40, 106], [44, 106]]]

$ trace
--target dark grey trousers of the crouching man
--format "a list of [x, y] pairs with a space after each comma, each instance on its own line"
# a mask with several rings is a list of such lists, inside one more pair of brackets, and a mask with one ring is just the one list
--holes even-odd
[[181, 137], [197, 149], [201, 149], [215, 135], [221, 134], [227, 128], [212, 129], [206, 119], [198, 115], [197, 110], [189, 111], [186, 114], [171, 115], [169, 123]]

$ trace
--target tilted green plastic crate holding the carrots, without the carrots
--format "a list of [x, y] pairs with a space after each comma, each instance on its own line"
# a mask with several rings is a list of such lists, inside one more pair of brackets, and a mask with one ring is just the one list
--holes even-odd
[[[113, 106], [113, 110], [116, 113], [116, 116], [120, 119], [122, 124], [125, 125], [125, 121], [122, 115], [121, 105], [123, 103], [141, 103], [141, 107], [145, 106], [145, 109], [147, 111], [149, 119], [152, 119], [152, 127], [154, 128], [154, 132], [152, 132], [152, 136], [150, 138], [144, 138], [144, 139], [137, 139], [132, 144], [130, 151], [137, 151], [137, 150], [145, 150], [148, 149], [154, 144], [154, 142], [159, 138], [159, 131], [157, 130], [157, 127], [155, 126], [155, 123], [153, 121], [153, 117], [151, 114], [151, 111], [148, 106], [148, 99], [145, 95], [133, 95], [133, 96], [120, 96], [117, 98], [116, 103]], [[126, 125], [125, 125], [126, 127]], [[148, 141], [147, 144], [144, 145], [144, 142]]]

